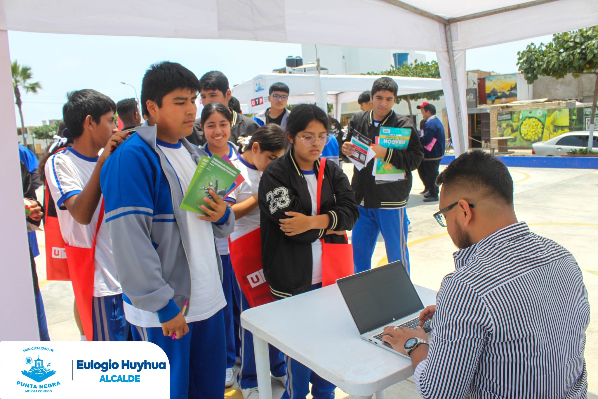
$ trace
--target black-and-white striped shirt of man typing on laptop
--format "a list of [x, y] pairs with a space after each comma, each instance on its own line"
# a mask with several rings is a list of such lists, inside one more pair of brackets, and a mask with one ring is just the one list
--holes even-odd
[[424, 398], [585, 398], [590, 304], [573, 255], [524, 222], [453, 254], [440, 286]]

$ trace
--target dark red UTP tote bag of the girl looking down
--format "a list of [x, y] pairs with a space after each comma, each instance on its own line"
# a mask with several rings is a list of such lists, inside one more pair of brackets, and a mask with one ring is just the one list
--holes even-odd
[[251, 307], [274, 301], [262, 268], [260, 231], [258, 227], [234, 241], [228, 237], [230, 263]]

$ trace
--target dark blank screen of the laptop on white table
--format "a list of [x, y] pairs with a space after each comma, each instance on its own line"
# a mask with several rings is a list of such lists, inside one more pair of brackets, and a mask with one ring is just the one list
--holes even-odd
[[401, 261], [339, 279], [337, 284], [359, 334], [423, 309]]

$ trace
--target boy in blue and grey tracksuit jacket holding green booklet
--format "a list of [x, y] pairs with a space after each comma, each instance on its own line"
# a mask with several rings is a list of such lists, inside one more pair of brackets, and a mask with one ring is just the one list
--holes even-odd
[[179, 208], [207, 155], [185, 139], [199, 91], [184, 66], [152, 65], [141, 89], [148, 121], [100, 176], [125, 315], [135, 340], [166, 352], [170, 398], [224, 397], [226, 301], [215, 237], [233, 232], [234, 214], [213, 191], [207, 217]]

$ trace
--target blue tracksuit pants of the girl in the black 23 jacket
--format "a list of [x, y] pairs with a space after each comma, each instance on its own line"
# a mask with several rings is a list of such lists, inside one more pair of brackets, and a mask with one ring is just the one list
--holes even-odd
[[[312, 285], [312, 290], [322, 288], [322, 284]], [[320, 377], [312, 370], [285, 355], [286, 389], [280, 399], [305, 399], [312, 383], [313, 399], [332, 399], [336, 386]]]

